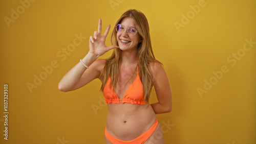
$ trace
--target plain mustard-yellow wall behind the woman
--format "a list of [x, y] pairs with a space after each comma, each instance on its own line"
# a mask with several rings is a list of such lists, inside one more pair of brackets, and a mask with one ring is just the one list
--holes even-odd
[[[134, 8], [150, 23], [153, 50], [172, 89], [173, 111], [157, 115], [165, 143], [255, 144], [256, 44], [236, 64], [227, 58], [243, 49], [245, 39], [256, 41], [256, 1], [208, 0], [193, 15], [189, 6], [202, 2], [36, 0], [7, 24], [5, 17], [11, 18], [12, 9], [22, 12], [22, 4], [0, 1], [0, 143], [104, 143], [108, 108], [102, 103], [101, 82], [67, 93], [58, 90], [58, 82], [88, 53], [99, 17], [102, 28], [111, 24], [112, 30], [121, 14]], [[182, 24], [182, 14], [187, 13], [191, 19], [177, 29], [174, 23]], [[57, 56], [65, 54], [61, 51], [73, 43], [75, 34], [86, 39], [66, 59]], [[27, 83], [34, 84], [34, 75], [46, 74], [42, 66], [54, 61], [58, 67], [30, 92]], [[197, 88], [204, 89], [204, 80], [209, 82], [223, 65], [228, 73], [200, 97]], [[3, 135], [4, 84], [9, 90], [9, 140]], [[154, 90], [151, 98], [157, 101]]]

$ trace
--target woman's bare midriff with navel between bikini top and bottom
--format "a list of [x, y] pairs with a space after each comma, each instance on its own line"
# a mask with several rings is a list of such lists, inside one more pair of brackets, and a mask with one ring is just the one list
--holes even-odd
[[121, 140], [132, 140], [150, 129], [156, 114], [150, 104], [108, 104], [106, 130]]

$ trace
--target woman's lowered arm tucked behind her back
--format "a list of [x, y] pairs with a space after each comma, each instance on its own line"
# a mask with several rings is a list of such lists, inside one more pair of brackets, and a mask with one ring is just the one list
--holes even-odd
[[151, 104], [156, 114], [166, 113], [172, 111], [172, 93], [170, 92], [170, 86], [167, 75], [161, 65], [156, 62], [152, 67], [154, 76], [153, 85], [156, 90], [158, 103]]

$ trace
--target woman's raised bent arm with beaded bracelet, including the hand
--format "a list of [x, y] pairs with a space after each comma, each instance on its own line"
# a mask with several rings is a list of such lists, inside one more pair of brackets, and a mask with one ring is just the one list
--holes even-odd
[[101, 19], [99, 19], [98, 32], [94, 32], [94, 37], [90, 36], [89, 53], [82, 59], [83, 63], [89, 66], [86, 68], [80, 61], [71, 68], [68, 73], [60, 80], [58, 89], [60, 91], [71, 91], [78, 89], [92, 80], [99, 78], [100, 73], [105, 65], [105, 60], [96, 60], [99, 56], [105, 54], [109, 50], [116, 49], [118, 46], [106, 46], [105, 39], [110, 30], [110, 25], [101, 35]]

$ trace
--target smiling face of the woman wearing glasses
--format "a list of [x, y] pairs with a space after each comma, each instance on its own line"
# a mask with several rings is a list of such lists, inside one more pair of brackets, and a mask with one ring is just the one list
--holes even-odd
[[125, 30], [122, 33], [117, 32], [117, 41], [119, 44], [119, 49], [121, 49], [122, 51], [134, 49], [137, 50], [137, 45], [139, 42], [141, 42], [140, 35], [138, 34], [138, 32], [134, 36], [130, 36], [127, 33], [127, 28], [133, 27], [136, 29], [133, 18], [126, 17], [121, 21], [120, 24], [124, 26]]

